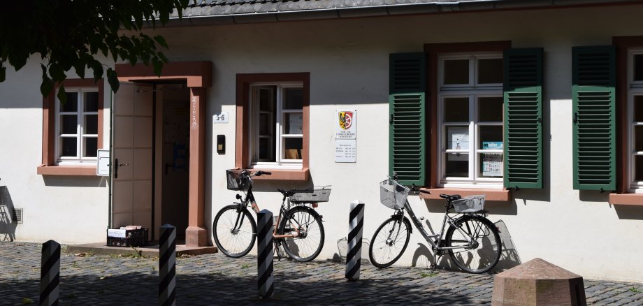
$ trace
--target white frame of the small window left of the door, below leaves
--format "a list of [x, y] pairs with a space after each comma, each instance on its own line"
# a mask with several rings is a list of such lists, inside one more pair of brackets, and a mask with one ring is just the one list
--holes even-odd
[[[82, 87], [82, 88], [66, 88], [65, 92], [76, 92], [78, 93], [78, 100], [75, 103], [78, 103], [77, 110], [75, 112], [62, 112], [60, 110], [60, 100], [56, 98], [56, 127], [55, 127], [55, 152], [56, 152], [56, 162], [58, 165], [83, 165], [87, 163], [96, 163], [96, 156], [85, 156], [85, 147], [86, 141], [82, 141], [83, 138], [96, 138], [98, 142], [99, 135], [84, 133], [85, 126], [85, 115], [96, 115], [96, 126], [100, 129], [99, 124], [99, 112], [85, 112], [85, 94], [88, 92], [99, 92], [98, 87]], [[72, 103], [72, 101], [67, 101], [66, 103]], [[76, 133], [74, 134], [63, 134], [62, 133], [62, 115], [76, 115]], [[62, 156], [62, 138], [76, 138], [76, 156]], [[96, 144], [97, 147], [100, 146], [99, 143]]]

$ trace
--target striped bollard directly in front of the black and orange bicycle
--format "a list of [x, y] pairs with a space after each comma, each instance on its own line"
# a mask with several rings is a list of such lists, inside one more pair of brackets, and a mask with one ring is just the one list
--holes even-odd
[[273, 295], [273, 213], [261, 210], [257, 214], [257, 287], [261, 298]]

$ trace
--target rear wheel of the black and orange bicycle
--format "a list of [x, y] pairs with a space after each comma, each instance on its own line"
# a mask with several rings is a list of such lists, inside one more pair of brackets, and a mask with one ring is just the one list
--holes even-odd
[[324, 226], [321, 217], [305, 206], [295, 206], [286, 212], [279, 222], [277, 233], [280, 235], [295, 235], [298, 237], [283, 238], [284, 251], [296, 261], [312, 261], [324, 247]]

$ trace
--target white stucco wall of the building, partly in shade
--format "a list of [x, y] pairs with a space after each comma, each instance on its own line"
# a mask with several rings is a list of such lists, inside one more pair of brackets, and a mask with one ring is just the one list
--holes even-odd
[[[641, 13], [643, 6], [607, 6], [178, 27], [157, 32], [166, 36], [171, 46], [166, 53], [172, 61], [212, 61], [207, 117], [224, 111], [231, 118], [228, 124], [208, 124], [208, 228], [219, 208], [231, 203], [236, 194], [226, 190], [224, 177], [235, 158], [236, 74], [310, 73], [309, 184], [333, 188], [331, 201], [317, 209], [326, 221], [325, 246], [318, 260], [339, 253], [337, 242], [347, 235], [349, 203], [354, 199], [366, 203], [363, 235], [369, 240], [392, 212], [380, 204], [378, 186], [388, 173], [389, 54], [422, 52], [424, 43], [474, 41], [512, 41], [514, 48], [544, 48], [544, 189], [513, 192], [510, 203], [488, 202], [489, 219], [507, 226], [504, 234], [513, 242], [513, 259], [526, 262], [540, 257], [583, 277], [643, 282], [643, 268], [635, 264], [643, 254], [643, 206], [614, 207], [607, 203], [607, 194], [573, 190], [571, 165], [572, 47], [609, 45], [612, 36], [642, 35], [637, 30], [643, 29]], [[25, 209], [25, 223], [17, 236], [46, 240], [42, 233], [48, 231], [62, 242], [103, 239], [108, 217], [108, 189], [103, 181], [36, 175], [42, 131], [39, 75], [39, 67], [32, 65], [0, 83], [0, 184], [9, 187], [15, 206]], [[338, 109], [357, 110], [356, 163], [335, 163]], [[223, 155], [214, 150], [219, 134], [227, 141]], [[254, 190], [260, 207], [276, 212], [281, 201], [277, 187], [307, 186], [257, 182]], [[417, 197], [410, 201], [416, 214], [430, 220], [434, 229], [440, 225], [440, 201]], [[80, 223], [71, 226], [71, 218]], [[397, 264], [426, 264], [426, 258], [417, 256], [426, 253], [423, 246], [426, 242], [414, 230], [410, 247]]]

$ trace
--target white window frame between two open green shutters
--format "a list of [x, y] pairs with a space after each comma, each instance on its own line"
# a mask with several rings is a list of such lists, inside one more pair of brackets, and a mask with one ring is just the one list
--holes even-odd
[[[458, 188], [503, 188], [503, 177], [482, 177], [481, 157], [483, 153], [503, 154], [503, 150], [483, 150], [479, 147], [480, 126], [503, 126], [503, 122], [478, 122], [478, 99], [485, 97], [503, 98], [502, 83], [478, 84], [478, 59], [502, 59], [503, 54], [494, 53], [470, 53], [470, 54], [447, 54], [438, 57], [438, 168], [440, 171], [441, 187]], [[469, 82], [466, 85], [445, 85], [444, 68], [445, 60], [468, 59], [469, 60]], [[445, 99], [467, 98], [469, 103], [468, 122], [445, 122], [444, 110]], [[447, 150], [446, 128], [447, 126], [468, 126], [469, 147], [468, 150]], [[503, 140], [504, 143], [504, 140]], [[468, 154], [468, 177], [446, 177], [447, 154], [448, 153]], [[503, 154], [504, 158], [504, 154]]]

